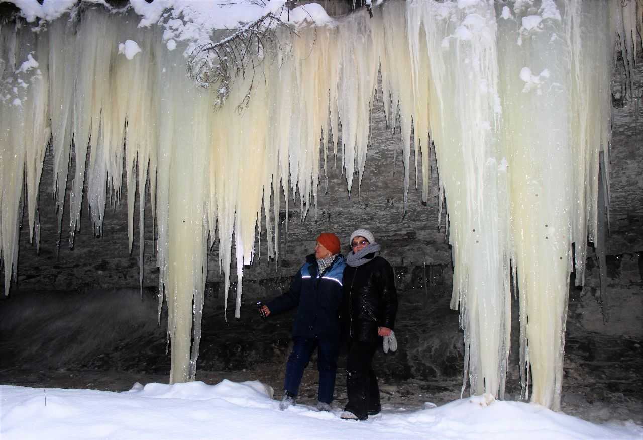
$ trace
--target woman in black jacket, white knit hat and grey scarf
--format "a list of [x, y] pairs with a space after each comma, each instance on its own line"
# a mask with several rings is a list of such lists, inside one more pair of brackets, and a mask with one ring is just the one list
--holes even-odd
[[370, 231], [350, 235], [343, 275], [342, 319], [349, 333], [346, 389], [349, 402], [342, 419], [366, 420], [380, 411], [379, 387], [371, 363], [381, 336], [390, 336], [397, 313], [397, 291], [391, 265], [379, 257]]

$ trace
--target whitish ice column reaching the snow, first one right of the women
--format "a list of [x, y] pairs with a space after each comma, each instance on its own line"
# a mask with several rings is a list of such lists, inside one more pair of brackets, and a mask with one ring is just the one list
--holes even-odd
[[[509, 355], [509, 213], [505, 151], [498, 142], [498, 60], [493, 1], [415, 2], [408, 20], [413, 59], [430, 56], [431, 83], [416, 61], [416, 127], [433, 129], [449, 212], [454, 274], [451, 306], [460, 307], [471, 392], [502, 396]], [[426, 35], [426, 41], [419, 39]], [[399, 87], [401, 84], [399, 85]], [[420, 88], [421, 87], [421, 88]], [[424, 91], [423, 89], [430, 88]], [[432, 117], [430, 124], [426, 122]], [[420, 123], [420, 121], [422, 121]], [[418, 133], [418, 138], [423, 134]]]

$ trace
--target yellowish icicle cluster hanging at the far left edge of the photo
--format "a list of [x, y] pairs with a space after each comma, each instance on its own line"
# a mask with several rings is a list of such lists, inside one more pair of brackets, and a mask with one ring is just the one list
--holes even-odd
[[0, 259], [8, 295], [12, 273], [16, 278], [23, 185], [30, 240], [34, 231], [38, 239], [38, 186], [51, 130], [46, 36], [17, 26], [3, 26], [0, 36], [3, 72], [8, 73], [0, 78]]

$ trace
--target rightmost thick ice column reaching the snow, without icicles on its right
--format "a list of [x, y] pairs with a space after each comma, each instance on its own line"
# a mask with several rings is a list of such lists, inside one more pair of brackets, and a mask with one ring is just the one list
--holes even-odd
[[513, 12], [516, 19], [507, 19], [506, 24], [509, 41], [501, 76], [512, 170], [512, 259], [520, 291], [520, 357], [523, 368], [531, 367], [532, 400], [556, 408], [572, 239], [570, 53], [566, 44], [550, 43], [565, 41], [563, 18], [555, 5], [547, 15], [545, 2], [538, 10], [542, 15], [532, 15], [532, 10], [520, 6]]

